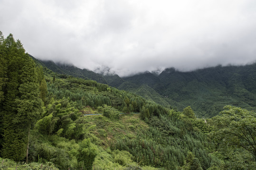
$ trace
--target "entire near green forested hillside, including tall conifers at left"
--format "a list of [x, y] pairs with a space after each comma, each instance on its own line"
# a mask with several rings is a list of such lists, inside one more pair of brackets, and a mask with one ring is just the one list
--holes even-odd
[[256, 170], [256, 113], [230, 103], [199, 119], [56, 73], [0, 32], [0, 170], [15, 168]]

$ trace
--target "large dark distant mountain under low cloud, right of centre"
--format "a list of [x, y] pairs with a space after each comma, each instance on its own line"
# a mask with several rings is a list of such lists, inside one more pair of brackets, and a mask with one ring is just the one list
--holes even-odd
[[120, 81], [114, 87], [165, 106], [169, 104], [178, 109], [191, 106], [200, 117], [213, 117], [225, 105], [256, 109], [256, 64], [190, 72], [166, 68], [160, 75], [145, 72], [120, 79], [125, 82], [120, 85]]

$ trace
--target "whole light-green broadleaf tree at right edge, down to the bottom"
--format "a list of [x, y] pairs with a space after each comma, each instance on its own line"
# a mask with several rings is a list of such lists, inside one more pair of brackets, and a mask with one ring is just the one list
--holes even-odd
[[[235, 169], [256, 167], [256, 114], [245, 109], [226, 106], [221, 115], [213, 118], [216, 128], [211, 136], [218, 141], [219, 151], [234, 160]], [[245, 164], [245, 162], [251, 162]]]

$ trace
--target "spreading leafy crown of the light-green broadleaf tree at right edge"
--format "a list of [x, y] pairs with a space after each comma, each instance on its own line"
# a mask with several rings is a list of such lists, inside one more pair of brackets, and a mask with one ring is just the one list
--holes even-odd
[[256, 161], [256, 113], [234, 106], [224, 109], [214, 118], [216, 129], [212, 136], [221, 147], [242, 148]]

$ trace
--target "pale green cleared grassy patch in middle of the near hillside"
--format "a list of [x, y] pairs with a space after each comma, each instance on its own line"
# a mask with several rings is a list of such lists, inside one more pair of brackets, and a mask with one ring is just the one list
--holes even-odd
[[119, 120], [110, 120], [103, 115], [86, 116], [85, 132], [95, 137], [96, 144], [109, 146], [116, 139], [135, 138], [137, 133], [149, 129], [140, 119], [140, 114], [123, 114]]

